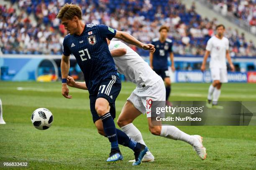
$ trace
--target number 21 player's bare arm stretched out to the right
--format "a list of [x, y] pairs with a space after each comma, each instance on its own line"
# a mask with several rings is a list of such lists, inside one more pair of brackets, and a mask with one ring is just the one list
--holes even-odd
[[139, 40], [137, 40], [132, 35], [128, 34], [127, 32], [123, 31], [116, 31], [115, 38], [118, 38], [124, 42], [127, 42], [132, 45], [136, 45], [137, 47], [143, 48], [143, 50], [149, 50], [149, 52], [154, 53], [155, 52], [155, 46], [152, 44], [143, 44]]

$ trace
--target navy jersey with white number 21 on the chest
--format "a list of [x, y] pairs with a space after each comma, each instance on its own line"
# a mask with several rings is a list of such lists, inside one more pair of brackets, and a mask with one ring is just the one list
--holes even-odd
[[88, 24], [81, 35], [69, 34], [63, 40], [63, 55], [73, 54], [76, 57], [90, 94], [98, 92], [102, 80], [117, 75], [106, 41], [115, 34], [116, 30], [106, 25]]

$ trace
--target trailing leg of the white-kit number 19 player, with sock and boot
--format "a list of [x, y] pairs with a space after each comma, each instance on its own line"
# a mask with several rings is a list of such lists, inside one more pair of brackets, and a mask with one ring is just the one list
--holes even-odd
[[[155, 119], [153, 118], [152, 120]], [[188, 135], [175, 126], [161, 125], [161, 121], [152, 120], [151, 117], [148, 117], [148, 128], [153, 135], [173, 140], [182, 140], [189, 145], [192, 145], [193, 149], [197, 152], [197, 155], [202, 160], [205, 160], [207, 155], [206, 148], [202, 145], [202, 137], [200, 135]]]

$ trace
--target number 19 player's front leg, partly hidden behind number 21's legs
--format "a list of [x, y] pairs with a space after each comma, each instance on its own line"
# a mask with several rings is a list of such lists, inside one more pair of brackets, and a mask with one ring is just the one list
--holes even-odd
[[[121, 130], [126, 133], [131, 139], [135, 140], [138, 143], [146, 145], [141, 132], [133, 125], [133, 120], [141, 115], [141, 112], [136, 109], [130, 101], [126, 101], [121, 114], [118, 117], [118, 126]], [[154, 156], [148, 151], [146, 155], [143, 157], [142, 162], [153, 162]], [[135, 162], [135, 160], [131, 160], [129, 162]]]

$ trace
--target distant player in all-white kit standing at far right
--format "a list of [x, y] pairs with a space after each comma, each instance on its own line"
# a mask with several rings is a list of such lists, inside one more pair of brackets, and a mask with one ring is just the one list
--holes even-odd
[[220, 24], [216, 27], [216, 30], [217, 34], [211, 37], [207, 42], [201, 70], [205, 71], [207, 57], [210, 54], [210, 71], [213, 82], [208, 90], [207, 107], [222, 109], [223, 107], [218, 105], [218, 99], [220, 97], [222, 83], [228, 82], [226, 58], [228, 59], [232, 71], [235, 71], [235, 67], [228, 51], [228, 38], [224, 37], [225, 26]]

